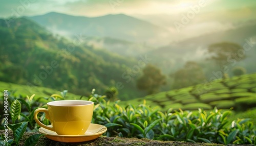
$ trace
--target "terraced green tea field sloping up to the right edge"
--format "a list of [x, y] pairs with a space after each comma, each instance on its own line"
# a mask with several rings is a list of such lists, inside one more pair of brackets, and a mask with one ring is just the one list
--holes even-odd
[[144, 98], [120, 102], [121, 105], [143, 103], [160, 106], [163, 111], [169, 108], [197, 110], [198, 108], [247, 110], [256, 107], [256, 74], [243, 75], [229, 79], [219, 79], [207, 84], [199, 84], [147, 95]]

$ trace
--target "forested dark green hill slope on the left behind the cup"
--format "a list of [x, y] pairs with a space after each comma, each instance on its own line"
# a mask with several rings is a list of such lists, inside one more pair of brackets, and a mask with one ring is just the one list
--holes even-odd
[[[45, 28], [27, 19], [15, 19], [10, 26], [0, 19], [0, 81], [43, 86], [76, 94], [90, 94], [93, 88], [103, 94], [120, 83], [120, 99], [143, 95], [122, 75], [138, 64], [123, 57], [84, 44], [78, 35], [72, 41], [54, 36]], [[133, 92], [131, 92], [133, 90]]]

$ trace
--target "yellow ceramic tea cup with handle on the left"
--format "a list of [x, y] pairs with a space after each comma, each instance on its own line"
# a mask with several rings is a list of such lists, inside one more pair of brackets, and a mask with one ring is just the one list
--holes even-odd
[[[67, 100], [47, 103], [48, 109], [38, 108], [34, 112], [36, 123], [59, 135], [82, 135], [86, 133], [93, 117], [94, 103], [91, 101]], [[42, 124], [37, 118], [39, 112], [45, 112], [51, 126]]]

